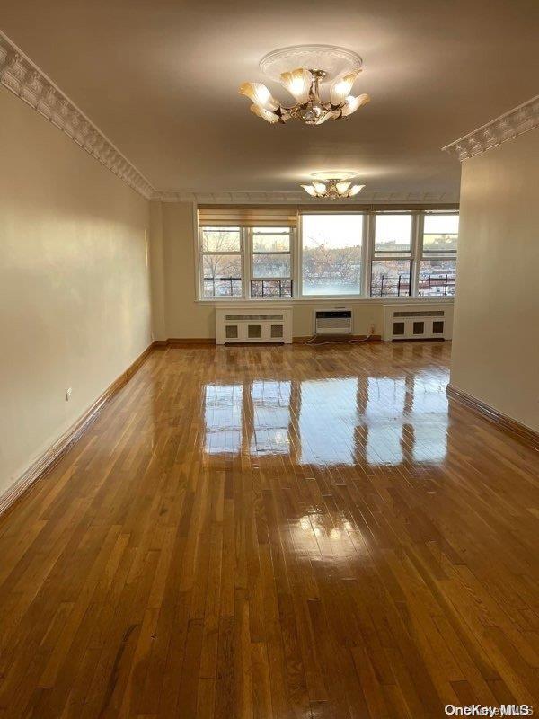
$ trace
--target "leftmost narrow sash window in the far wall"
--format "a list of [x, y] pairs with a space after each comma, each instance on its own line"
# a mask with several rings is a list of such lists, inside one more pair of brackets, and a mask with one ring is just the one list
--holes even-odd
[[201, 231], [203, 297], [242, 297], [242, 233], [239, 227]]

